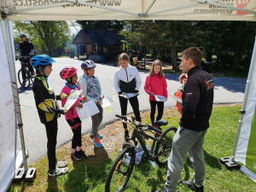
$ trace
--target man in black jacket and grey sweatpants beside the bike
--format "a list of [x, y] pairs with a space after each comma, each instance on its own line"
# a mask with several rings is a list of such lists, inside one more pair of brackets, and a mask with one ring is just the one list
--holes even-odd
[[188, 73], [183, 90], [182, 116], [179, 128], [172, 140], [172, 152], [168, 159], [167, 179], [164, 191], [175, 191], [183, 170], [186, 155], [194, 169], [193, 181], [182, 181], [190, 189], [204, 191], [205, 158], [203, 141], [212, 113], [213, 87], [211, 74], [201, 69], [202, 53], [195, 47], [182, 52], [180, 66]]

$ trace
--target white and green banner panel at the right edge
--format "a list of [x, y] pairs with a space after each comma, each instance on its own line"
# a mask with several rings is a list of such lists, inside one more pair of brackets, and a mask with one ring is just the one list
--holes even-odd
[[[235, 148], [235, 160], [246, 165], [256, 177], [256, 40], [250, 65], [247, 88], [241, 115], [241, 130]], [[236, 138], [237, 139], [237, 138]]]

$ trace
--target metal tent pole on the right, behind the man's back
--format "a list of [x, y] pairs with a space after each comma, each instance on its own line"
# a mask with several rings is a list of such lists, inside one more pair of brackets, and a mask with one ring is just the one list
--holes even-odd
[[237, 149], [237, 145], [239, 142], [239, 136], [241, 133], [241, 124], [243, 121], [243, 116], [246, 113], [246, 109], [247, 109], [247, 99], [248, 99], [248, 95], [249, 95], [249, 90], [251, 88], [251, 82], [253, 79], [253, 71], [254, 71], [254, 67], [255, 67], [255, 63], [256, 63], [256, 37], [255, 37], [255, 41], [254, 41], [254, 47], [253, 47], [253, 55], [252, 55], [252, 61], [251, 61], [251, 65], [250, 65], [250, 69], [249, 69], [249, 73], [248, 73], [248, 78], [247, 78], [247, 86], [246, 86], [246, 90], [245, 90], [245, 95], [243, 98], [243, 102], [242, 102], [242, 107], [241, 107], [241, 115], [240, 115], [240, 119], [239, 119], [239, 125], [238, 125], [238, 129], [236, 132], [236, 142], [233, 148], [233, 153], [232, 153], [232, 160], [235, 162], [235, 156], [236, 156], [236, 149]]

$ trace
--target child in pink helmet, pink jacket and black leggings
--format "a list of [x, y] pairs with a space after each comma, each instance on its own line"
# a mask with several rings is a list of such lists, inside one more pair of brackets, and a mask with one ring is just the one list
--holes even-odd
[[[76, 86], [76, 83], [78, 81], [77, 71], [78, 70], [75, 67], [65, 67], [61, 70], [61, 73], [60, 73], [61, 79], [67, 80], [67, 83], [62, 88], [61, 93], [64, 93], [67, 96], [69, 96], [72, 90], [79, 90], [78, 87]], [[62, 108], [64, 107], [66, 102], [67, 102], [67, 99], [63, 99], [61, 101]], [[82, 131], [81, 131], [82, 122], [79, 119], [79, 114], [76, 110], [76, 107], [83, 108], [83, 104], [81, 102], [82, 102], [82, 97], [79, 96], [78, 100], [67, 111], [67, 113], [65, 113], [65, 118], [67, 120], [67, 123], [68, 125], [70, 125], [73, 131], [71, 158], [75, 160], [86, 159], [86, 155], [82, 150]]]

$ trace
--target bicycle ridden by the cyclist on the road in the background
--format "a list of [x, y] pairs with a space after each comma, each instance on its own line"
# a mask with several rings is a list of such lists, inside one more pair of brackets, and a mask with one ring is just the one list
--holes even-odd
[[[18, 72], [18, 80], [24, 89], [27, 89], [30, 87], [30, 84], [34, 82], [33, 75], [34, 72], [29, 70], [30, 63], [30, 56], [20, 56], [19, 57], [21, 68]], [[22, 72], [24, 74], [24, 77], [22, 78]]]

